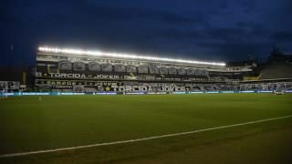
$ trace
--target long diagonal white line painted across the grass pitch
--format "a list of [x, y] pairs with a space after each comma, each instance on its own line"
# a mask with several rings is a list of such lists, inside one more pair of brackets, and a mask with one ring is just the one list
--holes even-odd
[[123, 144], [123, 143], [151, 140], [151, 139], [155, 139], [155, 138], [169, 138], [169, 137], [175, 137], [175, 136], [183, 136], [183, 135], [189, 135], [189, 134], [194, 134], [194, 133], [200, 133], [200, 132], [204, 132], [204, 131], [211, 131], [211, 130], [215, 130], [215, 129], [241, 127], [241, 126], [245, 126], [245, 125], [261, 123], [261, 122], [267, 122], [267, 121], [276, 120], [276, 119], [284, 119], [284, 118], [292, 118], [292, 115], [288, 115], [288, 116], [285, 116], [285, 117], [277, 117], [277, 118], [258, 119], [258, 120], [255, 120], [255, 121], [232, 124], [232, 125], [227, 125], [227, 126], [220, 126], [220, 127], [214, 127], [214, 128], [203, 128], [203, 129], [197, 129], [197, 130], [193, 130], [193, 131], [172, 133], [172, 134], [167, 134], [167, 135], [162, 135], [162, 136], [152, 136], [152, 137], [148, 137], [148, 138], [136, 138], [136, 139], [129, 139], [129, 140], [104, 142], [104, 143], [97, 143], [97, 144], [84, 145], [84, 146], [61, 148], [61, 149], [44, 149], [44, 150], [37, 150], [37, 151], [27, 151], [27, 152], [22, 152], [22, 153], [3, 154], [3, 155], [0, 155], [0, 159], [9, 158], [9, 157], [27, 156], [27, 155], [32, 155], [32, 154], [56, 152], [56, 151], [65, 151], [65, 150], [70, 150], [70, 149], [86, 149], [86, 148], [92, 148], [92, 147], [117, 145], [117, 144]]

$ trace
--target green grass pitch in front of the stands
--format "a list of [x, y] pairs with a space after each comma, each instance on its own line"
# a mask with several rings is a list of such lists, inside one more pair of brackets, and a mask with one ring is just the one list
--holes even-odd
[[[292, 95], [44, 96], [0, 99], [0, 155], [148, 138], [292, 116]], [[70, 149], [0, 163], [292, 163], [292, 118]]]

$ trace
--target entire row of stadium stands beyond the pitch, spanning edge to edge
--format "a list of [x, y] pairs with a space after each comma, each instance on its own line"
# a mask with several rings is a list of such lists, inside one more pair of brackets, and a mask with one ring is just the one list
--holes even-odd
[[[291, 90], [292, 60], [274, 48], [265, 65], [132, 56], [40, 47], [36, 67], [1, 68], [0, 81], [38, 92], [201, 92]], [[3, 83], [3, 84], [6, 84]], [[2, 85], [3, 86], [3, 85]], [[15, 85], [17, 86], [17, 85]], [[4, 88], [4, 87], [3, 87]], [[19, 88], [20, 89], [20, 88]], [[10, 91], [16, 91], [11, 89]]]

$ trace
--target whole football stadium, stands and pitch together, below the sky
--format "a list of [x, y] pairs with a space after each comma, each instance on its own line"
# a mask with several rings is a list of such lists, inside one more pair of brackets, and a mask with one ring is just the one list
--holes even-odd
[[39, 46], [0, 81], [0, 162], [290, 163], [291, 61]]

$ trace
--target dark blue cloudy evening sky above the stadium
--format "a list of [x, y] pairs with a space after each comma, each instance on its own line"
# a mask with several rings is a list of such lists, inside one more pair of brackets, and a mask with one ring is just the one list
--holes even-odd
[[266, 57], [273, 45], [291, 53], [291, 8], [291, 0], [2, 0], [0, 65], [34, 65], [38, 45], [221, 61]]

